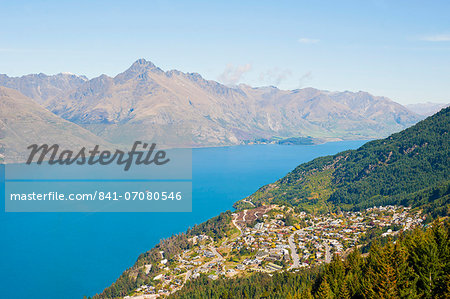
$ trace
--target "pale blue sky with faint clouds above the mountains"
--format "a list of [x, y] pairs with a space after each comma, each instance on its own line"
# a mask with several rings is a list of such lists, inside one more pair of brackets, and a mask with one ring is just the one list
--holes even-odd
[[4, 1], [0, 73], [115, 76], [145, 58], [224, 84], [450, 102], [450, 1]]

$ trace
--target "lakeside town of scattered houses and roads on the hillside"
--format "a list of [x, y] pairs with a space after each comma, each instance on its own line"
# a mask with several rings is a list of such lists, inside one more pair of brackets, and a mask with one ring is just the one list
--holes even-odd
[[216, 280], [255, 271], [299, 271], [329, 263], [334, 255], [345, 258], [355, 247], [363, 247], [371, 234], [394, 237], [424, 221], [421, 210], [402, 206], [316, 216], [277, 205], [237, 211], [228, 237], [214, 241], [196, 235], [189, 239], [192, 248], [171, 261], [160, 251], [157, 265], [144, 265], [146, 274], [152, 267], [160, 270], [152, 283], [125, 298], [167, 296], [200, 275]]

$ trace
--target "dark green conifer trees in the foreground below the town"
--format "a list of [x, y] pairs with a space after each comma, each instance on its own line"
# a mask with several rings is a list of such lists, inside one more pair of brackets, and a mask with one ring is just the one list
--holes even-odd
[[367, 257], [354, 251], [345, 260], [299, 273], [255, 273], [241, 278], [205, 276], [169, 298], [448, 298], [449, 222], [405, 233], [397, 242], [375, 242]]

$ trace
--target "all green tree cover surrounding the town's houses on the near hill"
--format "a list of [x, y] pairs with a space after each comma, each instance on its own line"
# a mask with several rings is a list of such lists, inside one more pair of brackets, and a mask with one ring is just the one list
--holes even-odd
[[[353, 252], [345, 259], [335, 256], [330, 264], [298, 272], [254, 273], [237, 278], [218, 276], [217, 280], [202, 274], [188, 280], [171, 297], [449, 298], [449, 129], [450, 108], [446, 108], [386, 139], [302, 164], [235, 204], [237, 209], [278, 204], [284, 212], [277, 213], [283, 214], [287, 225], [296, 224], [292, 211], [341, 215], [341, 211], [386, 205], [412, 207], [412, 211], [426, 216], [420, 219], [425, 219], [425, 223], [447, 219], [445, 222], [435, 221], [426, 231], [416, 229], [413, 233], [395, 234], [395, 242], [382, 235], [388, 229], [397, 232], [399, 227], [374, 227], [360, 238], [364, 254]], [[273, 214], [269, 212], [268, 217], [272, 218]], [[312, 216], [306, 216], [298, 225], [305, 227], [309, 217]], [[175, 256], [207, 242], [219, 244], [238, 234], [231, 220], [231, 212], [222, 213], [186, 234], [161, 241], [94, 298], [119, 298], [131, 294], [140, 285], [161, 284], [159, 279], [151, 277], [172, 269]], [[189, 241], [199, 235], [209, 238], [202, 245]], [[164, 265], [161, 251], [167, 259]], [[239, 257], [253, 254], [242, 247], [227, 255], [227, 259], [237, 262]], [[152, 267], [146, 273], [144, 269], [148, 265]], [[213, 271], [210, 273], [216, 273]]]

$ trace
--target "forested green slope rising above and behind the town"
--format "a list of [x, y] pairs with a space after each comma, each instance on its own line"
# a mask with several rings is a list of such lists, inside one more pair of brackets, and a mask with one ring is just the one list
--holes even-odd
[[[422, 206], [447, 215], [450, 191], [450, 108], [357, 150], [317, 158], [266, 185], [246, 201], [306, 210], [374, 205]], [[237, 208], [248, 207], [240, 201]]]

